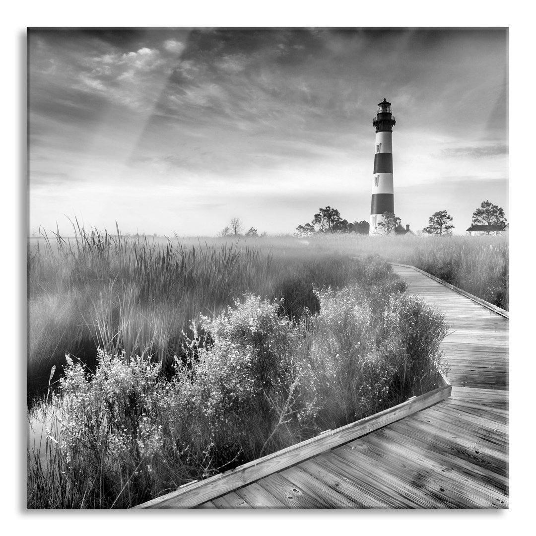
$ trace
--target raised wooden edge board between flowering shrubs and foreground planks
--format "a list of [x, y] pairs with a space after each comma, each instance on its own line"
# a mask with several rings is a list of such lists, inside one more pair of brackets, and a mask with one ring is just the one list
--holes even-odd
[[215, 497], [232, 492], [237, 488], [267, 477], [270, 474], [277, 473], [291, 465], [295, 465], [336, 446], [355, 440], [371, 431], [404, 419], [407, 416], [449, 398], [451, 385], [445, 381], [444, 377], [441, 383], [444, 383], [444, 385], [440, 388], [421, 394], [419, 397], [412, 397], [410, 400], [393, 406], [388, 410], [370, 415], [341, 428], [326, 430], [322, 434], [312, 437], [307, 441], [302, 441], [286, 449], [273, 452], [263, 458], [250, 461], [247, 464], [237, 467], [235, 470], [217, 474], [199, 482], [192, 482], [186, 488], [180, 488], [175, 492], [154, 498], [134, 508], [185, 509], [196, 507]]

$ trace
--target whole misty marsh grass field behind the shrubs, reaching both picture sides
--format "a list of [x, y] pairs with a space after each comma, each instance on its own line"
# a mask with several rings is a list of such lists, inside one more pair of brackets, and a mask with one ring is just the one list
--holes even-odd
[[28, 404], [58, 384], [64, 355], [95, 370], [96, 348], [150, 355], [169, 374], [183, 333], [199, 315], [217, 316], [235, 296], [283, 298], [299, 318], [318, 312], [313, 285], [355, 280], [352, 257], [381, 255], [412, 264], [498, 307], [509, 308], [508, 236], [291, 236], [170, 239], [86, 231], [42, 232], [28, 248]]

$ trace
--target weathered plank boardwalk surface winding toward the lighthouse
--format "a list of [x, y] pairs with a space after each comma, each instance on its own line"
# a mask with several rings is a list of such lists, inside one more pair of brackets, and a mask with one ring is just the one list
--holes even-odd
[[[411, 267], [394, 269], [450, 325], [450, 397], [190, 507], [508, 508], [508, 318]], [[146, 507], [184, 508], [184, 497]]]

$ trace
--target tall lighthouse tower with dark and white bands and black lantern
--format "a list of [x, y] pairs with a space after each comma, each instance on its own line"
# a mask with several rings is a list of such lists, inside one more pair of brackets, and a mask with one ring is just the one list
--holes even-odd
[[378, 113], [372, 124], [376, 128], [376, 152], [374, 154], [374, 176], [370, 203], [369, 234], [382, 233], [378, 227], [384, 212], [394, 213], [393, 200], [393, 147], [391, 136], [396, 124], [391, 115], [391, 103], [385, 98], [378, 104]]

